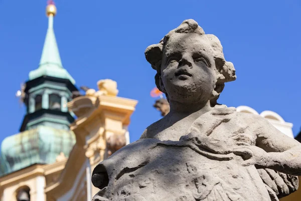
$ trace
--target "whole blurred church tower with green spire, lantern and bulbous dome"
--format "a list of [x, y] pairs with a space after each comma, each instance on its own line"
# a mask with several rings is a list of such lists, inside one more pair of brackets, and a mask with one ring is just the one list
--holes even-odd
[[[19, 200], [18, 193], [30, 196], [30, 200], [46, 200], [43, 173], [40, 176], [35, 173], [31, 177], [29, 175], [34, 174], [32, 170], [21, 179], [26, 175], [22, 171], [39, 169], [39, 165], [55, 163], [58, 157], [68, 157], [75, 144], [74, 133], [69, 128], [74, 117], [68, 111], [67, 103], [72, 100], [72, 92], [78, 89], [61, 62], [53, 29], [56, 13], [53, 1], [49, 1], [46, 8], [48, 30], [41, 60], [19, 91], [26, 106], [20, 133], [7, 137], [1, 144], [0, 200], [15, 200], [11, 196]], [[10, 176], [15, 174], [21, 177]], [[7, 176], [18, 177], [19, 180], [2, 183], [2, 178]]]

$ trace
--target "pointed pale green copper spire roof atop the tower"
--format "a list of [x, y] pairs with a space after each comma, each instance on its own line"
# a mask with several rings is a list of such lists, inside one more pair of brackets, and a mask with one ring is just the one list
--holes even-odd
[[49, 16], [48, 30], [39, 68], [29, 73], [29, 79], [32, 80], [43, 75], [69, 79], [73, 84], [75, 84], [75, 80], [62, 65], [53, 30], [53, 16]]

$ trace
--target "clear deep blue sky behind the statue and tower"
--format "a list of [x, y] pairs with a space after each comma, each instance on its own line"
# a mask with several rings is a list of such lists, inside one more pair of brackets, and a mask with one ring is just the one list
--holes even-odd
[[[15, 92], [38, 67], [47, 31], [46, 0], [0, 0], [0, 142], [18, 133], [25, 108]], [[118, 83], [119, 96], [138, 100], [131, 141], [159, 120], [149, 91], [155, 71], [144, 58], [186, 19], [216, 35], [237, 80], [226, 83], [219, 103], [271, 110], [301, 126], [301, 2], [287, 1], [67, 1], [56, 0], [54, 29], [63, 66], [77, 86], [99, 79]]]

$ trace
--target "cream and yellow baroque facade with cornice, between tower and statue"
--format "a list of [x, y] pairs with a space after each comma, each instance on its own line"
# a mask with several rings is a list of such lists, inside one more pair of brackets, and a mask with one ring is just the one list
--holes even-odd
[[[102, 83], [108, 88], [102, 88]], [[91, 184], [91, 170], [129, 143], [127, 126], [137, 102], [110, 93], [115, 83], [100, 80], [98, 91], [89, 89], [86, 95], [68, 103], [68, 108], [78, 117], [70, 125], [76, 143], [68, 160], [64, 159], [58, 178], [46, 186], [47, 200], [91, 200], [91, 195], [98, 191]]]

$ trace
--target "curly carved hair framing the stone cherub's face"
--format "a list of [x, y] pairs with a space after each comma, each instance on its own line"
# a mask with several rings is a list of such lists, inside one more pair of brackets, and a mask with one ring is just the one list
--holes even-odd
[[[226, 61], [224, 58], [223, 47], [219, 39], [212, 34], [205, 34], [204, 30], [194, 20], [185, 20], [179, 27], [170, 31], [158, 44], [150, 45], [145, 50], [145, 58], [152, 65], [152, 68], [157, 70], [155, 75], [155, 82], [159, 90], [164, 90], [160, 86], [161, 76], [161, 63], [163, 51], [166, 47], [167, 41], [173, 34], [199, 34], [209, 41], [212, 48], [212, 54], [215, 60], [215, 67], [217, 71], [217, 80], [214, 95], [215, 97], [210, 100], [211, 105], [217, 104], [219, 94], [222, 92], [225, 82], [233, 81], [236, 79], [235, 69], [231, 62]], [[166, 94], [167, 95], [167, 94]], [[167, 95], [168, 97], [168, 95]]]

